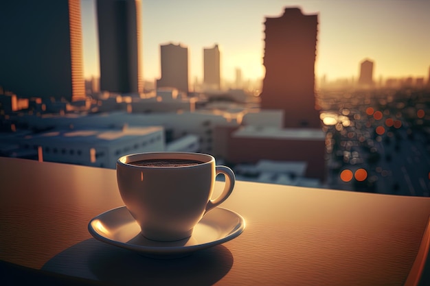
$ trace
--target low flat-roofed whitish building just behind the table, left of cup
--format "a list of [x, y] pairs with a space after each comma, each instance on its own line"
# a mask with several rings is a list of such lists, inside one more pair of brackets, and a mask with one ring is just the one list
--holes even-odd
[[39, 160], [115, 169], [117, 158], [166, 148], [159, 126], [53, 130], [27, 135], [21, 148], [38, 150]]

